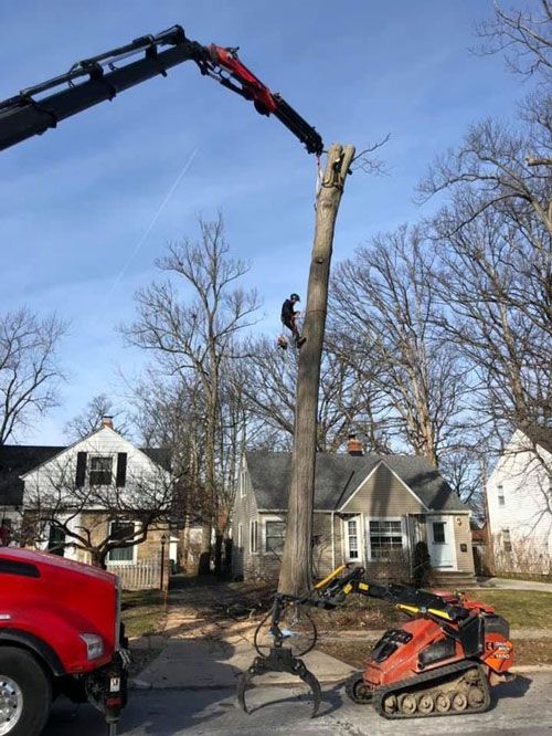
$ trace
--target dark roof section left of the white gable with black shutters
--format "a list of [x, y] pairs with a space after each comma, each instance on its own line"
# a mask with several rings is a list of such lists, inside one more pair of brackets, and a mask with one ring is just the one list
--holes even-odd
[[20, 475], [41, 465], [65, 448], [42, 445], [0, 445], [0, 504], [20, 506], [23, 501], [23, 481]]

